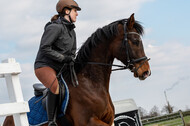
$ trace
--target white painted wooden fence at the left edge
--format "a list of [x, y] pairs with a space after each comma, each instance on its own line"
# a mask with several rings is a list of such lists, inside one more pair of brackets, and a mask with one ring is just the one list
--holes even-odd
[[14, 58], [0, 63], [0, 78], [5, 78], [10, 103], [0, 104], [0, 116], [13, 115], [15, 126], [28, 126], [26, 112], [29, 112], [28, 102], [23, 99], [19, 74], [20, 64]]

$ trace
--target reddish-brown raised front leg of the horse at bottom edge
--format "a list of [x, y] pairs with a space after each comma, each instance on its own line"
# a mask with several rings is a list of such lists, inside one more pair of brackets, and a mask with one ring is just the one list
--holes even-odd
[[87, 126], [114, 126], [114, 123], [107, 124], [95, 117], [91, 117]]

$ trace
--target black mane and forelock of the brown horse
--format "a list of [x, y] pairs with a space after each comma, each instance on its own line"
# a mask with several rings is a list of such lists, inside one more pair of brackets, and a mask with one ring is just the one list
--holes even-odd
[[[118, 34], [118, 24], [126, 21], [128, 24], [128, 19], [122, 19], [115, 22], [112, 22], [103, 28], [98, 28], [87, 40], [83, 43], [81, 48], [77, 53], [77, 57], [75, 60], [75, 70], [76, 72], [80, 72], [80, 70], [86, 65], [90, 56], [91, 56], [91, 49], [95, 48], [98, 44], [102, 42], [109, 41], [113, 39], [114, 36]], [[135, 22], [134, 28], [137, 32], [142, 35], [143, 34], [143, 27], [140, 25], [138, 21]]]

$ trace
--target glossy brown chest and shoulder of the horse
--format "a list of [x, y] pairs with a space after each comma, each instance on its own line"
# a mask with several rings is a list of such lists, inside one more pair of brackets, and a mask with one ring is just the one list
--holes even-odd
[[114, 119], [114, 108], [106, 88], [97, 83], [92, 84], [92, 81], [88, 79], [85, 79], [85, 81], [80, 80], [80, 83], [77, 90], [70, 92], [72, 111], [77, 108], [76, 111], [82, 112], [84, 120], [96, 117], [107, 124], [112, 122]]

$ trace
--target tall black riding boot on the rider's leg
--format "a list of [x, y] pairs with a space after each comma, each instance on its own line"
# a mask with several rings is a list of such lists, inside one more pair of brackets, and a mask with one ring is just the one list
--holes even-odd
[[56, 117], [59, 95], [53, 94], [50, 90], [48, 91], [47, 100], [46, 100], [46, 110], [48, 115], [48, 126], [57, 126]]

